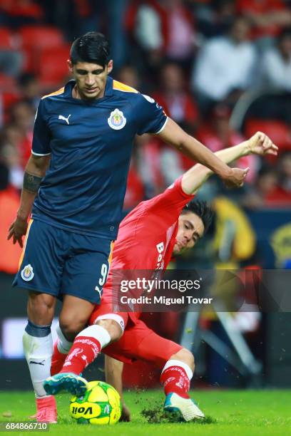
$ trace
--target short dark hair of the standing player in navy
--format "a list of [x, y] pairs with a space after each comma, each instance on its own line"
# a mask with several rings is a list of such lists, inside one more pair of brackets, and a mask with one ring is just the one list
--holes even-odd
[[97, 63], [105, 67], [110, 61], [110, 47], [103, 33], [88, 32], [73, 41], [70, 51], [71, 63]]

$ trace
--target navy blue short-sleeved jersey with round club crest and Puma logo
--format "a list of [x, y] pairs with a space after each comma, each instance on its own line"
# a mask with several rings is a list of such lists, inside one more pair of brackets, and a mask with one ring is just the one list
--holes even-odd
[[72, 97], [74, 81], [39, 103], [32, 153], [51, 162], [32, 216], [81, 234], [115, 239], [136, 134], [167, 117], [147, 95], [108, 77], [103, 98]]

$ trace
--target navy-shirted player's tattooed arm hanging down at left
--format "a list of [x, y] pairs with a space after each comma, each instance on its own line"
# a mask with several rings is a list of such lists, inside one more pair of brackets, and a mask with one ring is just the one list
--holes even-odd
[[24, 172], [24, 185], [21, 192], [20, 206], [16, 219], [9, 227], [7, 239], [13, 237], [13, 243], [19, 243], [22, 247], [22, 237], [26, 234], [27, 219], [31, 214], [32, 204], [39, 190], [41, 179], [46, 174], [50, 156], [31, 155]]

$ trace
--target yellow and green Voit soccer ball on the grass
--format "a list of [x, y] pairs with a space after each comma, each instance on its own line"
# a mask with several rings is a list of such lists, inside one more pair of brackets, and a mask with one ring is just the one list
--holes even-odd
[[72, 397], [71, 417], [78, 424], [115, 424], [121, 417], [121, 397], [108, 383], [88, 383], [85, 395]]

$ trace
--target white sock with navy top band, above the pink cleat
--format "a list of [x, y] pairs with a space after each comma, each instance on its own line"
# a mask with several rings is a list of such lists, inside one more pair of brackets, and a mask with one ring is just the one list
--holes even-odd
[[36, 326], [29, 321], [22, 340], [36, 398], [44, 398], [47, 395], [43, 383], [51, 375], [51, 326]]

